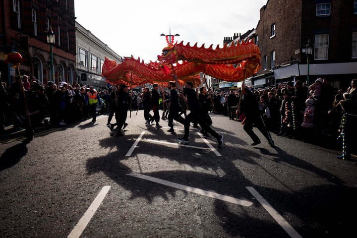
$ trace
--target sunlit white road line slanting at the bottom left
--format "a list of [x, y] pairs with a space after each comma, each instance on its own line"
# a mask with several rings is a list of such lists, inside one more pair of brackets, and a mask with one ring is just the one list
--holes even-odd
[[88, 207], [87, 211], [84, 213], [83, 217], [79, 220], [77, 225], [73, 228], [71, 233], [69, 233], [67, 238], [79, 238], [84, 229], [87, 227], [89, 221], [92, 219], [94, 213], [97, 211], [98, 207], [102, 203], [103, 199], [107, 195], [111, 186], [104, 186], [99, 192], [97, 197], [94, 199], [92, 204]]

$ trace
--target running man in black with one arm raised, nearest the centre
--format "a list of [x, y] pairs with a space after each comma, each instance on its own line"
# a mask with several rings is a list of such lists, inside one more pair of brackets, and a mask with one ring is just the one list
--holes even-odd
[[203, 110], [196, 96], [196, 92], [193, 89], [193, 83], [191, 81], [188, 81], [186, 82], [185, 87], [182, 88], [179, 85], [179, 81], [176, 74], [173, 74], [173, 78], [175, 79], [176, 87], [179, 89], [179, 91], [185, 93], [186, 97], [181, 93], [180, 97], [185, 103], [187, 103], [188, 109], [190, 111], [190, 113], [184, 119], [184, 135], [183, 138], [178, 139], [179, 142], [185, 144], [188, 143], [190, 122], [197, 121], [198, 124], [202, 127], [202, 129], [217, 138], [218, 146], [221, 147], [223, 144], [223, 135], [219, 135], [216, 131], [209, 127], [205, 119], [202, 117]]

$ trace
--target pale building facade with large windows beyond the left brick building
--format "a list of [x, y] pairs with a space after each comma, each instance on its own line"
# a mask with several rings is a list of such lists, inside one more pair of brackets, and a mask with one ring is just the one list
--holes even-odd
[[75, 26], [77, 82], [97, 88], [107, 87], [106, 79], [101, 76], [105, 57], [117, 63], [122, 62], [122, 58], [78, 22]]

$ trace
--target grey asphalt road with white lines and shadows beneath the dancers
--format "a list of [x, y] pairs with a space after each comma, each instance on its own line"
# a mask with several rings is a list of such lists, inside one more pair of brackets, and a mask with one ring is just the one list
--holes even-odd
[[[131, 113], [124, 136], [107, 116], [0, 142], [0, 237], [355, 237], [357, 166], [340, 151], [211, 115], [224, 145]], [[114, 119], [113, 119], [114, 121]], [[355, 234], [355, 235], [353, 235]]]

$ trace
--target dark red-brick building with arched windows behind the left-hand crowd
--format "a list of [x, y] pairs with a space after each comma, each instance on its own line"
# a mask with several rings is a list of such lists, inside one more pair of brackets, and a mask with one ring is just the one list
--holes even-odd
[[[50, 80], [75, 82], [75, 16], [74, 0], [0, 0], [0, 70], [2, 80], [13, 81], [14, 69], [5, 64], [5, 55], [11, 51], [23, 57], [21, 75], [35, 76], [42, 83]], [[55, 32], [51, 73], [50, 45], [47, 33]]]

